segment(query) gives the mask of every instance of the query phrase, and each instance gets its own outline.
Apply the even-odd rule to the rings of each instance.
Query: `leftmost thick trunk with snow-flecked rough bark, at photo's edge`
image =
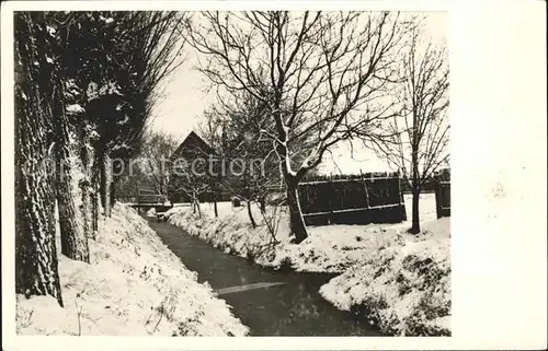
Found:
[[[62,306],[55,243],[52,115],[47,103],[52,74],[44,52],[45,28],[34,31],[27,13],[15,13],[15,292],[52,295]],[[41,32],[41,33],[38,33]],[[39,36],[37,34],[41,34]],[[33,44],[33,39],[36,43]],[[41,55],[38,55],[41,54]],[[37,57],[34,67],[32,57]],[[7,234],[7,233],[4,233]]]

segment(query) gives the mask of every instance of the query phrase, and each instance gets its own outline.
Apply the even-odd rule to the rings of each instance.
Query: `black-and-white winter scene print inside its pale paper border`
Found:
[[[16,336],[452,339],[449,12],[259,8],[9,13]]]

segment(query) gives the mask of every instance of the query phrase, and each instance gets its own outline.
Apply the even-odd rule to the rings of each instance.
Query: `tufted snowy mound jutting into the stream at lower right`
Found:
[[[450,336],[449,219],[427,223],[415,241],[378,250],[320,293],[389,335]]]

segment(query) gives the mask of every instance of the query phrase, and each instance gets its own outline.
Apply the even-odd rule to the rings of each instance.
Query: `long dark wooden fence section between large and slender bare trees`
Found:
[[[393,174],[299,184],[308,225],[398,223],[407,220],[401,182]]]

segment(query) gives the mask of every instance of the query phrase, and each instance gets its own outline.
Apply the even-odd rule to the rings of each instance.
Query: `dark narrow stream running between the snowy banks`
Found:
[[[380,336],[346,312],[333,307],[319,294],[332,274],[277,272],[224,254],[205,242],[168,224],[149,221],[163,243],[201,282],[215,290],[253,283],[282,282],[270,288],[221,294],[233,314],[250,327],[252,336]],[[226,291],[226,290],[225,290]]]

